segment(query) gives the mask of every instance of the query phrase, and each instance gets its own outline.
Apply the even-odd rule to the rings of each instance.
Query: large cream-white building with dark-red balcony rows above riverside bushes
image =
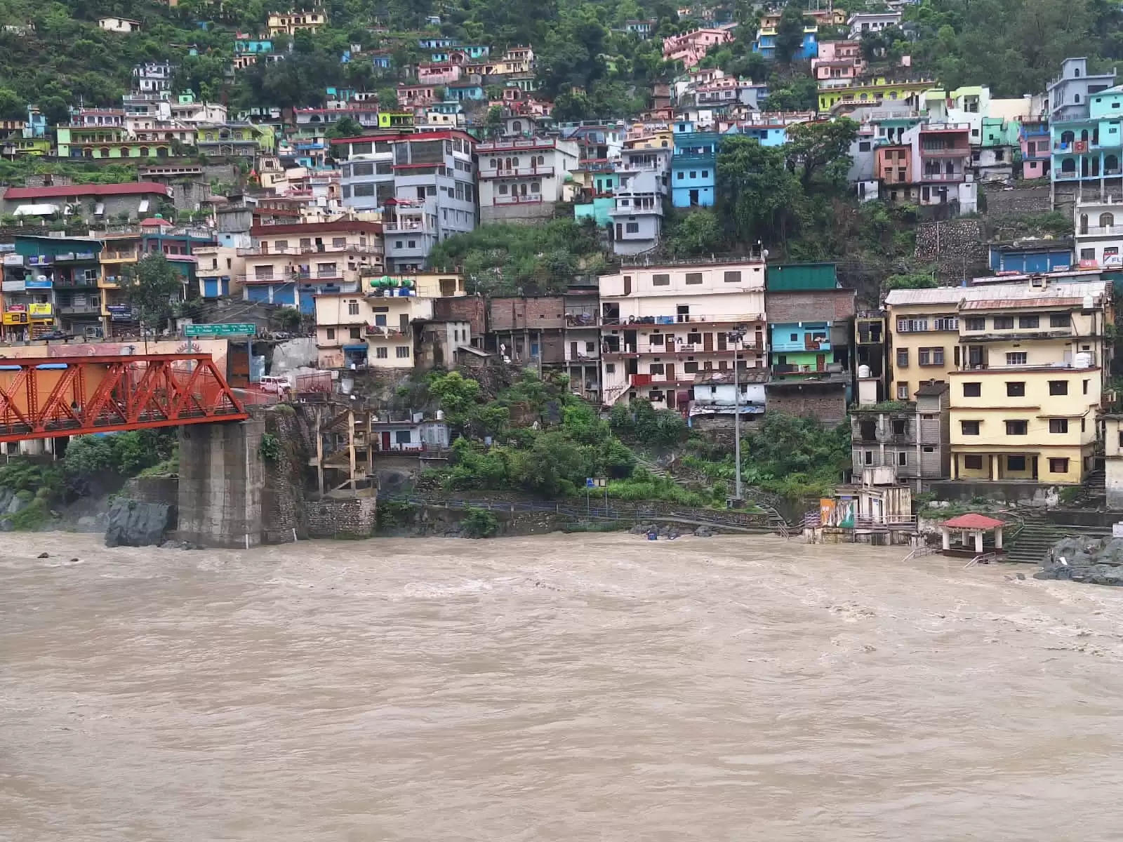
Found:
[[[675,408],[700,372],[767,366],[765,263],[626,266],[602,275],[601,388],[611,405]],[[730,331],[742,331],[740,340]]]

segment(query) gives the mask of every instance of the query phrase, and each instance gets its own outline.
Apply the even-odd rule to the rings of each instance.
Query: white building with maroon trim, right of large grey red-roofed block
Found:
[[[576,143],[557,138],[485,140],[475,154],[482,222],[549,219],[578,158]]]

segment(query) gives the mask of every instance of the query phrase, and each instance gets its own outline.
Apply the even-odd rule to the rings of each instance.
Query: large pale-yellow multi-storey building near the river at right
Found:
[[[1092,470],[1106,282],[895,290],[886,305],[894,396],[949,384],[952,479],[1075,484]]]

